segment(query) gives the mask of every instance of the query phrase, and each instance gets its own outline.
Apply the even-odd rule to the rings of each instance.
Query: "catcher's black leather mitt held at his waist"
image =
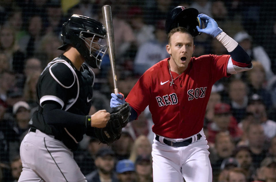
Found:
[[[110,145],[118,140],[122,133],[122,128],[125,127],[129,121],[130,107],[129,103],[124,103],[114,108],[110,112],[110,120],[104,128],[95,128],[95,136],[101,141]]]

